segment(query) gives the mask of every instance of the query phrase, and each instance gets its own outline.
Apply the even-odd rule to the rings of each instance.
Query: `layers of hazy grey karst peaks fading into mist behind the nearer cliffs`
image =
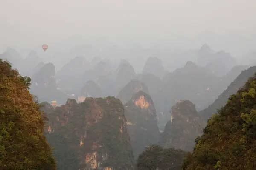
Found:
[[[178,100],[189,99],[196,110],[201,111],[211,105],[241,71],[256,63],[253,54],[239,62],[225,51],[211,50],[207,44],[199,50],[181,51],[177,57],[165,57],[165,62],[161,59],[163,53],[138,46],[125,54],[131,57],[119,60],[96,56],[90,61],[83,57],[90,54],[86,49],[90,48],[71,50],[70,54],[75,57],[66,63],[58,54],[49,59],[51,62],[44,62],[36,51],[23,59],[13,48],[7,48],[0,57],[11,62],[21,75],[31,77],[30,92],[41,102],[56,100],[60,105],[68,98],[82,102],[86,97],[100,96],[117,96],[128,102],[131,94],[144,89],[154,102],[162,130],[169,121],[170,107]],[[116,49],[109,52],[114,55]],[[60,67],[58,71],[56,65]]]

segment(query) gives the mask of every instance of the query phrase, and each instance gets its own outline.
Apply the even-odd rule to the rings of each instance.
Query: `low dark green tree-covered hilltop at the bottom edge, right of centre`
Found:
[[[137,170],[180,170],[186,152],[149,145],[137,159]]]

